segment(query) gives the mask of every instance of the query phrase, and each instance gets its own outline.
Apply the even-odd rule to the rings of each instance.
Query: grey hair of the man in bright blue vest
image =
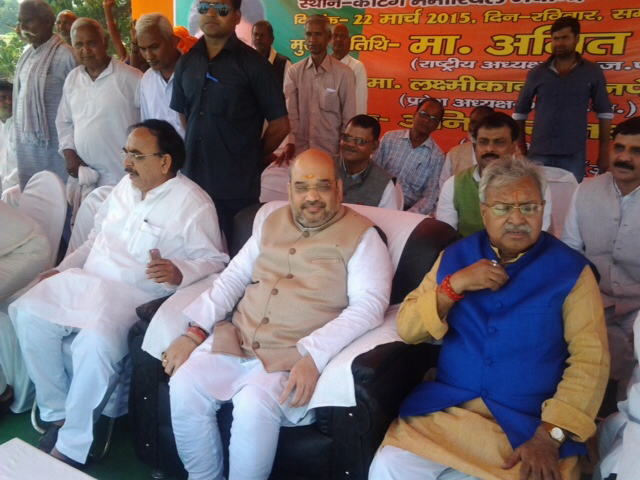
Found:
[[[480,203],[487,201],[487,189],[489,187],[506,187],[527,177],[535,180],[540,189],[540,196],[544,198],[544,193],[547,190],[547,180],[540,165],[522,155],[509,155],[492,161],[482,171],[482,178],[478,185]]]

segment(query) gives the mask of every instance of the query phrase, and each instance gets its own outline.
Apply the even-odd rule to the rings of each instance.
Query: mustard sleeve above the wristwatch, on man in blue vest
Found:
[[[567,368],[553,398],[542,405],[542,420],[584,442],[596,431],[594,418],[609,377],[609,347],[598,283],[586,266],[562,307]]]

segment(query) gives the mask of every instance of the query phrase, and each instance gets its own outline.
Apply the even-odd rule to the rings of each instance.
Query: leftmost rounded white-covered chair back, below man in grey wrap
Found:
[[[49,171],[36,173],[20,195],[18,210],[36,222],[51,245],[48,268],[55,264],[67,216],[67,192],[60,177]]]

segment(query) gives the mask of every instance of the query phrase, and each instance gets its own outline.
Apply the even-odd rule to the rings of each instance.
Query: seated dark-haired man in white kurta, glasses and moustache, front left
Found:
[[[162,120],[132,128],[123,155],[129,175],[88,240],[9,307],[41,416],[54,424],[40,447],[72,465],[86,461],[94,418],[122,371],[135,307],[228,261],[211,199],[178,173],[180,135]],[[72,334],[70,379],[61,343]]]

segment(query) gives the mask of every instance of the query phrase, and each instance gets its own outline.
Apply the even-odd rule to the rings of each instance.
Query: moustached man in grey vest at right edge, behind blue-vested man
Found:
[[[562,240],[593,262],[611,345],[612,392],[626,396],[633,366],[633,324],[640,310],[640,117],[613,130],[610,171],[578,186]]]

